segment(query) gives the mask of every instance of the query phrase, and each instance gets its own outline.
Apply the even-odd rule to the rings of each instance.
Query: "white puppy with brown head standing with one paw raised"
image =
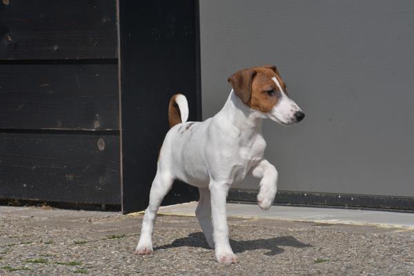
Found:
[[[250,174],[260,180],[257,202],[263,210],[273,204],[277,170],[264,159],[262,120],[290,126],[304,112],[290,99],[275,66],[239,70],[228,78],[232,86],[224,107],[206,121],[188,122],[188,103],[174,95],[168,106],[170,130],[159,152],[157,174],[142,221],[136,254],[152,254],[157,210],[175,179],[199,188],[195,211],[204,236],[220,263],[237,263],[228,239],[226,197],[230,187]]]

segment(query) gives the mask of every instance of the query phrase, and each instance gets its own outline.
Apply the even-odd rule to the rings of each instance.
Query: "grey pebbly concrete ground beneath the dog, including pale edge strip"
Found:
[[[414,214],[228,204],[239,264],[224,265],[194,208],[162,208],[139,256],[139,213],[0,206],[0,275],[414,275]]]

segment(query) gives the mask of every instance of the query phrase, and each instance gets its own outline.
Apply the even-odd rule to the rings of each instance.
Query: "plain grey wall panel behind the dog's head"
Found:
[[[200,17],[204,119],[265,63],[306,113],[264,124],[279,190],[414,197],[414,1],[201,0]]]

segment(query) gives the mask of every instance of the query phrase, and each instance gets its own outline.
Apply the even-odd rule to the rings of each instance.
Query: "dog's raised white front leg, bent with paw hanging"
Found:
[[[257,195],[259,207],[268,210],[275,200],[277,191],[277,170],[266,159],[260,161],[252,170],[253,177],[261,178],[260,190]]]

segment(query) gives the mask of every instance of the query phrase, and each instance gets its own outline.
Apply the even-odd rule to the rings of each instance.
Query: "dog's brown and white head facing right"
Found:
[[[305,117],[304,112],[288,96],[286,84],[276,66],[239,70],[228,78],[228,82],[248,107],[264,113],[279,124],[289,126]]]

